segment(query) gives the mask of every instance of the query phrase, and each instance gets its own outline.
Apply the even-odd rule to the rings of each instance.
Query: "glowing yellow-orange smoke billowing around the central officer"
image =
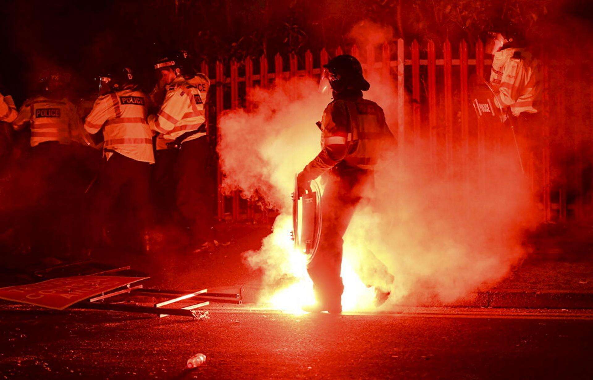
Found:
[[[365,97],[385,108],[397,136],[393,81],[373,71],[367,78]],[[255,91],[251,101],[253,111],[222,117],[219,152],[225,189],[260,194],[280,210],[262,249],[245,254],[273,293],[285,278],[308,282],[305,258],[289,240],[290,193],[294,174],[320,150],[314,123],[329,97],[313,80],[296,78]],[[525,254],[522,232],[533,224],[533,209],[514,147],[487,151],[486,170],[464,166],[454,152],[459,159],[449,167],[466,170],[447,171],[426,146],[391,152],[377,167],[374,196],[362,202],[345,236],[345,309],[368,308],[372,288],[391,292],[388,304],[451,302],[500,279]]]

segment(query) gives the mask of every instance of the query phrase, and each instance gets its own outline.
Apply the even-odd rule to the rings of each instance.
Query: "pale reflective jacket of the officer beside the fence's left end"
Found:
[[[206,121],[204,103],[209,87],[210,81],[203,74],[196,74],[191,79],[178,76],[168,85],[160,110],[156,115],[148,116],[151,129],[161,134],[157,136],[157,149],[166,149],[167,142],[198,129]],[[206,132],[196,133],[183,142],[205,135]]]

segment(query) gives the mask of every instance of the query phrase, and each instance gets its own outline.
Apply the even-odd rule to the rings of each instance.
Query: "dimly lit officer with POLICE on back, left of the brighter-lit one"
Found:
[[[74,238],[72,218],[79,211],[71,143],[80,120],[67,97],[69,79],[63,71],[43,71],[38,83],[40,93],[24,102],[12,123],[17,131],[30,127],[31,149],[24,155],[15,183],[27,204],[24,209],[31,212],[31,244],[43,254],[69,250]]]

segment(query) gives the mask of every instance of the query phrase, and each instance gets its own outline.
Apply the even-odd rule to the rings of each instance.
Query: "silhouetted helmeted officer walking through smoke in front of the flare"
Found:
[[[369,83],[356,58],[340,55],[324,68],[334,100],[321,120],[322,149],[297,177],[300,197],[311,180],[328,174],[321,198],[320,242],[307,266],[318,303],[304,309],[341,312],[342,238],[364,191],[372,186],[374,167],[382,148],[393,142],[393,135],[385,123],[382,108],[362,97]]]

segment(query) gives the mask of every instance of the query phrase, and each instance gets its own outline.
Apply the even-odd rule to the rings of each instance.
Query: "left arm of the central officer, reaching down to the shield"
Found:
[[[343,102],[327,106],[323,114],[323,149],[302,171],[301,175],[306,180],[314,180],[346,157],[348,123]]]

